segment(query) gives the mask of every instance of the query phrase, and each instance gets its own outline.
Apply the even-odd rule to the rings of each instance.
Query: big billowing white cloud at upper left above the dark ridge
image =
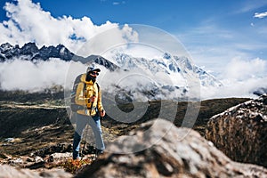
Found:
[[[87,41],[101,32],[110,28],[117,28],[117,33],[121,31],[117,23],[111,23],[109,20],[97,26],[88,17],[54,18],[50,12],[45,12],[40,4],[34,4],[31,0],[18,0],[17,4],[6,3],[4,9],[9,19],[0,23],[0,44],[9,42],[23,45],[36,42],[38,47],[64,44],[70,51],[76,53],[81,51],[80,48]],[[127,29],[131,30],[131,28]],[[125,34],[125,31],[122,31],[121,40],[125,40],[123,38],[125,35],[131,35],[131,33]],[[130,38],[131,36],[128,39]],[[105,40],[109,43],[108,40],[113,39]]]

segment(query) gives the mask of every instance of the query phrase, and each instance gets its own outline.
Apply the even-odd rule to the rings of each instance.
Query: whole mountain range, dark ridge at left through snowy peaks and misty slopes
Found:
[[[198,80],[199,85],[203,86],[222,85],[205,70],[192,64],[188,58],[173,56],[170,53],[163,53],[162,57],[153,59],[115,53],[107,60],[99,55],[90,55],[86,58],[77,56],[62,44],[56,47],[43,46],[40,49],[35,43],[24,44],[21,48],[19,45],[13,46],[8,43],[0,45],[1,62],[17,58],[33,62],[58,58],[62,61],[95,63],[101,69],[110,72],[106,75],[108,78],[106,82],[103,82],[103,88],[107,83],[107,91],[115,92],[118,98],[127,98],[127,101],[134,100],[141,95],[149,100],[188,97],[187,93],[191,90],[189,83],[195,79]]]

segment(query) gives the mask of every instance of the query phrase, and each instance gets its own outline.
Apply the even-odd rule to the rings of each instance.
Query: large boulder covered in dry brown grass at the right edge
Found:
[[[267,166],[267,95],[210,118],[206,139],[235,161]]]

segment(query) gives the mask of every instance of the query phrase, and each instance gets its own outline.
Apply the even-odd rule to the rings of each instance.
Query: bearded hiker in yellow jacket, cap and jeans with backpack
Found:
[[[81,137],[87,124],[93,129],[96,154],[99,155],[105,150],[100,119],[100,117],[105,116],[105,110],[101,103],[101,89],[96,83],[96,77],[100,71],[101,69],[95,69],[94,66],[91,66],[87,68],[85,74],[79,76],[80,81],[77,85],[75,102],[80,108],[73,111],[73,117],[76,117],[77,120],[73,139],[73,159],[79,159]]]

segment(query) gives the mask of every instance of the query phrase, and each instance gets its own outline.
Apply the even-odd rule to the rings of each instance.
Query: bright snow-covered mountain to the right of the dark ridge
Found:
[[[133,75],[137,74],[133,78],[133,75],[125,72],[125,77],[128,75],[131,83],[125,82],[126,89],[123,90],[117,86],[117,93],[124,91],[125,96],[132,96],[132,98],[138,91],[144,93],[149,99],[168,97],[177,99],[177,97],[189,97],[188,93],[192,87],[200,90],[200,85],[214,87],[223,85],[205,70],[192,64],[188,58],[172,56],[170,53],[163,53],[162,57],[157,59],[135,58],[125,53],[115,53],[112,61],[115,61],[120,69]],[[120,97],[123,98],[123,95],[120,94]]]

